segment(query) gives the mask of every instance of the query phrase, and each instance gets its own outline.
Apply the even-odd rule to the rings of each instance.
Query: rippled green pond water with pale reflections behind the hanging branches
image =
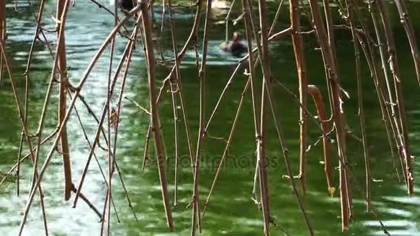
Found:
[[[21,1],[22,5],[26,1]],[[109,6],[108,1],[101,1]],[[276,7],[270,4],[270,15],[274,15]],[[111,6],[109,6],[111,8]],[[21,95],[24,90],[23,71],[26,67],[26,58],[34,33],[34,21],[32,12],[21,8],[19,12],[12,13],[13,4],[8,5],[8,53],[12,57],[14,75],[18,81],[18,88]],[[420,10],[420,3],[410,2],[410,13],[414,28],[420,32],[420,19],[413,12]],[[160,9],[156,9],[160,18]],[[238,9],[237,9],[238,10]],[[417,117],[419,110],[419,88],[414,77],[414,67],[408,42],[404,37],[403,28],[399,26],[397,12],[394,6],[389,6],[392,19],[394,19],[394,35],[396,36],[397,48],[399,50],[399,66],[404,83],[405,102],[408,110],[408,121],[410,127],[410,150],[412,155],[419,155],[419,148],[415,145],[419,141],[420,122]],[[44,22],[46,28],[53,29],[54,23],[50,19],[55,14],[55,3],[48,1]],[[216,22],[225,18],[225,11],[214,10],[212,21],[215,23],[210,29],[209,55],[207,67],[207,117],[216,104],[218,96],[224,88],[227,79],[236,65],[236,58],[230,57],[219,50],[219,44],[225,38],[224,28]],[[239,13],[234,12],[235,16]],[[276,28],[281,30],[287,27],[287,10],[283,10],[283,17]],[[177,19],[178,43],[181,47],[189,34],[191,27],[191,12],[177,8],[175,12]],[[70,8],[66,25],[66,45],[70,80],[77,83],[82,77],[84,70],[95,51],[104,41],[113,26],[113,19],[88,1],[77,1],[74,8]],[[157,21],[160,26],[160,20]],[[128,24],[132,27],[132,23]],[[240,26],[236,26],[240,29]],[[200,31],[201,32],[201,31]],[[350,92],[351,99],[345,100],[345,111],[347,122],[352,131],[360,135],[358,126],[356,81],[354,75],[354,55],[350,35],[345,31],[336,32],[339,69],[343,81],[343,88]],[[55,35],[47,34],[48,39],[55,39]],[[169,23],[166,23],[165,33],[155,35],[159,41],[158,45],[166,56],[171,55],[171,40],[169,34]],[[419,38],[419,37],[418,37]],[[325,99],[325,76],[321,64],[321,55],[316,48],[312,37],[305,36],[306,59],[308,65],[309,83],[315,84],[323,90]],[[122,54],[126,39],[118,38],[117,55]],[[420,43],[420,41],[419,41]],[[35,132],[39,112],[44,101],[46,85],[50,77],[51,56],[46,46],[37,44],[35,57],[32,62],[30,81],[30,131]],[[297,76],[294,66],[294,55],[292,44],[289,39],[284,39],[271,45],[271,66],[274,77],[282,81],[288,88],[297,91]],[[108,71],[108,51],[99,61],[82,90],[82,95],[89,102],[95,114],[99,115],[105,102],[106,81]],[[187,101],[189,121],[193,131],[193,143],[198,130],[198,74],[195,68],[193,51],[187,52],[187,57],[182,62],[182,81],[184,84],[184,97]],[[115,62],[116,63],[116,62]],[[142,47],[137,47],[133,66],[128,73],[126,85],[126,96],[138,101],[142,106],[148,106],[148,87],[146,68],[144,66]],[[213,137],[224,137],[227,139],[233,122],[233,117],[238,106],[240,95],[245,86],[245,77],[240,75],[233,79],[231,89],[227,97],[222,101],[220,110],[209,128],[209,135]],[[162,67],[157,69],[158,86],[162,78],[166,77],[167,71]],[[55,86],[55,89],[57,86]],[[367,127],[367,140],[369,144],[372,177],[377,180],[372,183],[372,197],[379,217],[392,235],[420,235],[419,197],[407,197],[404,184],[399,183],[397,175],[392,168],[392,157],[388,147],[379,104],[376,101],[372,79],[363,61],[363,89],[365,91],[365,116]],[[55,93],[57,90],[55,90]],[[274,86],[274,95],[278,106],[278,117],[287,137],[290,158],[294,166],[294,173],[298,167],[298,106],[287,93],[278,86]],[[56,97],[56,95],[54,95]],[[17,117],[15,101],[12,99],[10,82],[6,78],[4,86],[0,89],[0,170],[7,172],[15,164],[21,124]],[[312,101],[309,102],[310,110],[314,111]],[[115,105],[115,102],[114,104]],[[82,106],[77,104],[77,111],[82,115],[84,127],[89,138],[93,139],[95,132],[95,121],[88,115]],[[57,104],[53,103],[47,112],[47,128],[44,135],[52,132],[56,122]],[[164,141],[169,155],[167,168],[169,181],[169,194],[173,197],[174,181],[174,144],[173,144],[173,117],[171,110],[171,99],[168,93],[164,93],[160,115]],[[229,149],[227,164],[222,168],[218,183],[211,197],[206,216],[204,217],[203,235],[261,235],[263,222],[262,213],[251,201],[251,190],[254,177],[254,123],[251,112],[250,94],[242,108],[240,119],[235,135],[233,135],[232,146]],[[191,208],[184,208],[191,201],[191,190],[193,179],[191,167],[187,157],[187,143],[182,123],[180,123],[182,173],[178,188],[178,207],[173,209],[175,230],[172,235],[187,235],[191,226]],[[149,164],[145,170],[141,170],[142,155],[144,151],[144,137],[149,125],[149,117],[137,109],[129,101],[124,100],[122,104],[122,115],[120,121],[120,133],[117,148],[117,161],[122,171],[128,194],[133,202],[133,208],[139,222],[136,222],[130,208],[126,203],[126,197],[122,190],[120,180],[115,175],[113,181],[113,197],[117,207],[117,213],[121,223],[113,213],[111,229],[114,235],[168,235],[162,199],[159,187],[158,171],[155,164]],[[312,122],[309,122],[310,141],[313,144],[320,132]],[[73,182],[79,183],[82,170],[88,155],[88,145],[81,132],[77,117],[70,117],[68,122],[68,135],[70,140],[70,153],[72,158]],[[307,235],[303,218],[298,211],[298,206],[292,190],[289,188],[285,175],[283,157],[278,148],[278,141],[274,126],[269,126],[268,139],[269,155],[269,193],[271,215],[276,222],[286,228],[290,235]],[[364,183],[363,149],[358,141],[348,139],[348,158],[352,170],[359,184]],[[41,151],[41,157],[45,157],[47,144]],[[225,148],[225,142],[219,139],[206,139],[204,155],[200,166],[200,201],[203,207],[205,198],[209,193],[211,182],[216,171],[216,165]],[[153,149],[153,146],[152,148]],[[103,168],[106,167],[106,152],[98,149],[96,151],[99,162]],[[153,152],[151,153],[153,157]],[[323,174],[323,160],[321,146],[312,148],[308,156],[308,190],[305,196],[305,208],[309,214],[316,235],[337,235],[341,232],[340,204],[338,195],[330,197],[327,193],[325,177]],[[338,165],[334,156],[335,166]],[[16,235],[21,221],[21,210],[24,208],[28,189],[30,188],[32,176],[32,164],[26,161],[22,166],[21,195],[17,197],[15,184],[8,183],[0,188],[0,232],[3,235]],[[79,201],[77,208],[72,208],[73,197],[70,201],[64,201],[64,178],[61,174],[61,157],[55,155],[44,175],[43,188],[45,194],[46,214],[48,217],[48,228],[53,235],[97,235],[100,232],[99,219],[83,201]],[[418,173],[418,172],[416,172]],[[334,173],[334,186],[338,186],[338,172]],[[379,222],[374,215],[366,213],[365,204],[361,198],[361,192],[351,181],[352,193],[354,195],[354,217],[355,220],[350,230],[343,235],[381,235]],[[416,193],[420,186],[416,184]],[[102,175],[97,164],[93,160],[88,170],[88,175],[82,189],[95,206],[102,210],[105,199],[105,186]],[[173,201],[172,201],[173,202]],[[41,235],[44,233],[44,226],[39,209],[39,197],[35,197],[32,210],[28,217],[28,223],[24,231],[25,235]],[[271,228],[273,235],[282,235],[274,227]]]

